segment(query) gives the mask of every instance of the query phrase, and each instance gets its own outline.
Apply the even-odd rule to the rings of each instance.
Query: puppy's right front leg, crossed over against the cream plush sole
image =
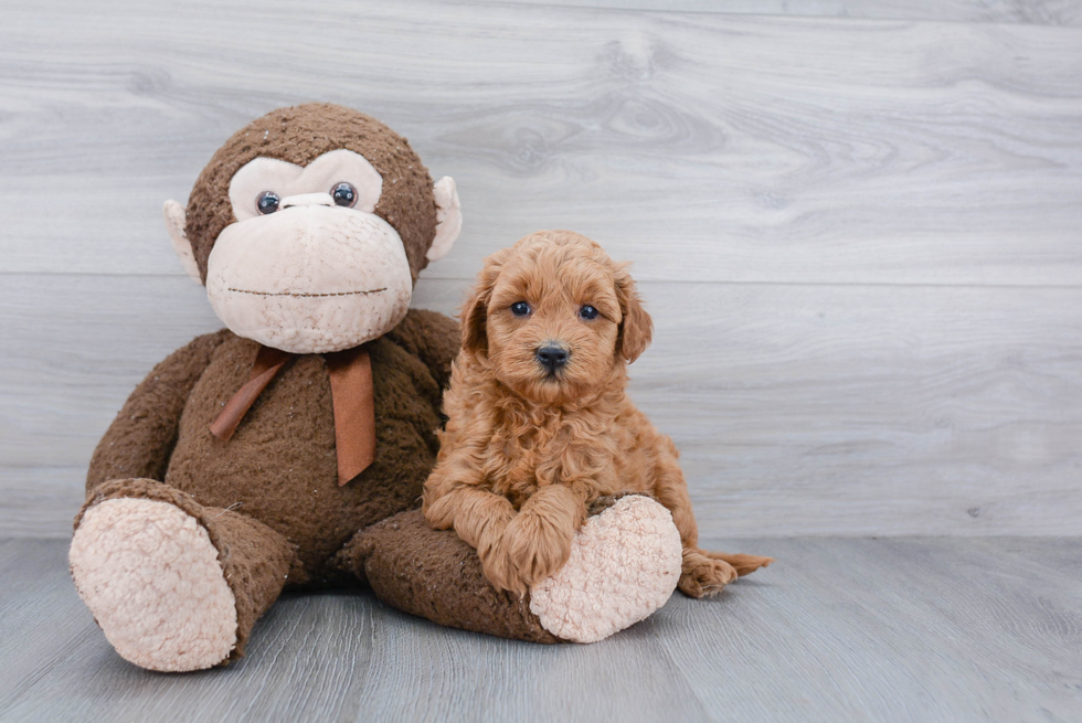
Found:
[[[524,593],[560,570],[571,556],[575,531],[586,520],[586,495],[570,485],[549,485],[526,501],[503,532],[502,546]]]

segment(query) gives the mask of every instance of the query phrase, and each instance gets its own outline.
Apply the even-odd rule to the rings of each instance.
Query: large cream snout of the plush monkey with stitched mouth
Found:
[[[206,264],[206,294],[234,333],[298,354],[350,349],[405,316],[413,278],[402,240],[327,193],[227,226]]]

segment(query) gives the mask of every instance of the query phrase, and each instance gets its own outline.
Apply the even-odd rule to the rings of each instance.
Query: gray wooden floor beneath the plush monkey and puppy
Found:
[[[714,541],[722,546],[732,541]],[[368,593],[290,596],[224,669],[124,662],[66,543],[0,543],[7,721],[1080,721],[1082,541],[774,539],[721,597],[592,646],[439,628]]]

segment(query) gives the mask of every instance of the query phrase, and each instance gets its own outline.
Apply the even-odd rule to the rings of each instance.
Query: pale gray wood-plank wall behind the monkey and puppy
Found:
[[[307,100],[457,180],[416,306],[541,227],[635,262],[704,535],[1082,534],[1082,3],[719,6],[0,2],[0,536],[219,326],[162,201]]]

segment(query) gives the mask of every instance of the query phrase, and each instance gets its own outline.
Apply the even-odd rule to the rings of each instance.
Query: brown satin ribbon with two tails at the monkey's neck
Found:
[[[211,424],[211,434],[229,442],[267,384],[295,354],[259,347],[248,382],[225,403]],[[375,459],[375,395],[372,389],[372,360],[364,347],[323,354],[330,372],[330,395],[335,407],[335,446],[338,453],[338,483],[344,485]]]

